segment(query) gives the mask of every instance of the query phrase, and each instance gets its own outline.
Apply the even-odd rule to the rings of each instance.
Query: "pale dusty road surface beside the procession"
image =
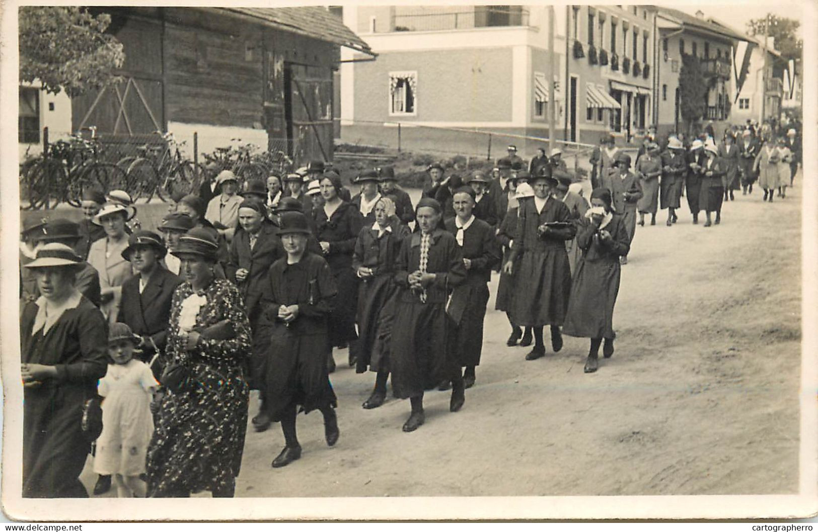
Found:
[[[426,424],[406,434],[408,402],[362,409],[374,376],[336,351],[339,443],[326,446],[320,414],[301,416],[302,458],[273,470],[280,427],[249,429],[236,496],[796,493],[800,196],[739,193],[721,226],[681,209],[672,228],[662,213],[637,228],[616,354],[595,374],[582,373],[586,339],[528,362],[489,311],[465,407],[430,392]],[[493,308],[496,277],[491,288]]]

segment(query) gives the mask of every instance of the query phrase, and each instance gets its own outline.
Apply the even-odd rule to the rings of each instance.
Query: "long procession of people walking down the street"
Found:
[[[173,199],[155,230],[121,190],[85,190],[79,223],[28,223],[20,243],[25,384],[23,495],[232,497],[248,427],[279,422],[272,467],[301,458],[299,412],[340,437],[330,383],[335,348],[374,373],[362,404],[408,399],[403,431],[425,423],[424,396],[465,405],[478,382],[488,284],[525,360],[588,338],[584,367],[613,355],[613,310],[637,226],[686,195],[693,223],[721,223],[734,191],[786,197],[798,168],[794,130],[712,128],[649,137],[636,162],[605,137],[591,156],[590,201],[560,151],[526,165],[509,146],[488,172],[433,163],[413,206],[393,168],[360,172],[350,194],[314,161],[265,181],[211,172]],[[106,194],[107,192],[107,194]],[[649,222],[646,216],[649,215]],[[367,385],[368,386],[368,385]],[[249,393],[258,391],[252,418]],[[100,406],[101,402],[101,406]]]

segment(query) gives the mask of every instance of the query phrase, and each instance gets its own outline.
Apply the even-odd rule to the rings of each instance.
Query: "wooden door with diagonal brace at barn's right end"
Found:
[[[286,113],[293,158],[299,164],[309,160],[332,160],[332,69],[287,65],[289,87]]]

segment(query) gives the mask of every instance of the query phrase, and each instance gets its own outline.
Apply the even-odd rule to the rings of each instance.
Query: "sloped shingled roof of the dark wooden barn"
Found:
[[[305,37],[333,42],[374,56],[366,42],[324,7],[219,7],[239,15],[258,19],[262,24]]]

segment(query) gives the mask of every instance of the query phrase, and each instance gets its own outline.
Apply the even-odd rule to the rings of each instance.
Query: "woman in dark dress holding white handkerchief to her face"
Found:
[[[630,248],[625,219],[613,212],[609,190],[598,188],[591,192],[591,208],[582,217],[577,242],[582,257],[573,276],[563,333],[591,338],[585,373],[593,373],[603,340],[603,355],[605,358],[613,355],[613,338],[616,338],[613,305],[621,275],[619,257],[627,255]]]

